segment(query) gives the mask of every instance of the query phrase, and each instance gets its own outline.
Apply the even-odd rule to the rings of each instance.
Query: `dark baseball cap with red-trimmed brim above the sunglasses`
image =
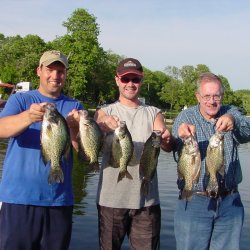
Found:
[[[130,73],[143,76],[142,65],[137,59],[126,58],[118,64],[116,69],[116,74],[118,76],[123,76]]]

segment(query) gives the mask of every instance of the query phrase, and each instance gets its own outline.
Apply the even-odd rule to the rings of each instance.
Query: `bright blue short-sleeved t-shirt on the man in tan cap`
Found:
[[[32,103],[41,102],[54,103],[64,117],[72,109],[83,109],[79,101],[64,95],[52,99],[32,90],[12,95],[0,117],[19,114],[29,109]],[[20,135],[10,138],[3,163],[0,201],[38,206],[73,205],[72,152],[67,160],[62,159],[64,182],[49,184],[50,163],[45,165],[41,156],[41,124],[33,123]]]

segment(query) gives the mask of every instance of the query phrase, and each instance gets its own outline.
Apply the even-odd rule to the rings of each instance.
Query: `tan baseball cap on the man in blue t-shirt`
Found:
[[[40,58],[39,66],[48,66],[53,62],[61,62],[66,68],[69,66],[67,57],[58,50],[44,52]]]

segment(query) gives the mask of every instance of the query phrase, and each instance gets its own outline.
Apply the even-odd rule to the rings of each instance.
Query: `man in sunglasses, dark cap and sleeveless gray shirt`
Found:
[[[149,185],[148,194],[142,194],[139,162],[144,144],[153,130],[161,131],[161,148],[165,151],[171,151],[172,137],[161,111],[138,99],[143,76],[143,68],[138,60],[122,60],[115,76],[119,99],[101,107],[95,114],[103,131],[111,136],[119,121],[125,121],[134,144],[134,156],[127,166],[130,178],[118,181],[119,169],[110,161],[112,141],[106,139],[105,142],[97,192],[99,243],[100,249],[104,250],[121,249],[125,235],[132,249],[159,248],[161,209],[157,174]]]

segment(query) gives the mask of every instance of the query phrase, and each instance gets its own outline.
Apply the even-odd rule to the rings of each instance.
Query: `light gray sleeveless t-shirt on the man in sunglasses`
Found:
[[[160,109],[141,104],[136,108],[115,102],[105,105],[102,110],[107,115],[116,115],[120,121],[126,121],[134,143],[134,156],[127,168],[133,177],[123,178],[117,182],[119,168],[110,166],[110,153],[113,133],[105,139],[103,149],[102,166],[97,190],[97,203],[101,206],[113,208],[139,209],[160,203],[157,173],[154,175],[149,187],[149,194],[145,197],[141,194],[141,178],[139,175],[139,162],[143,146],[153,131],[153,124]]]

